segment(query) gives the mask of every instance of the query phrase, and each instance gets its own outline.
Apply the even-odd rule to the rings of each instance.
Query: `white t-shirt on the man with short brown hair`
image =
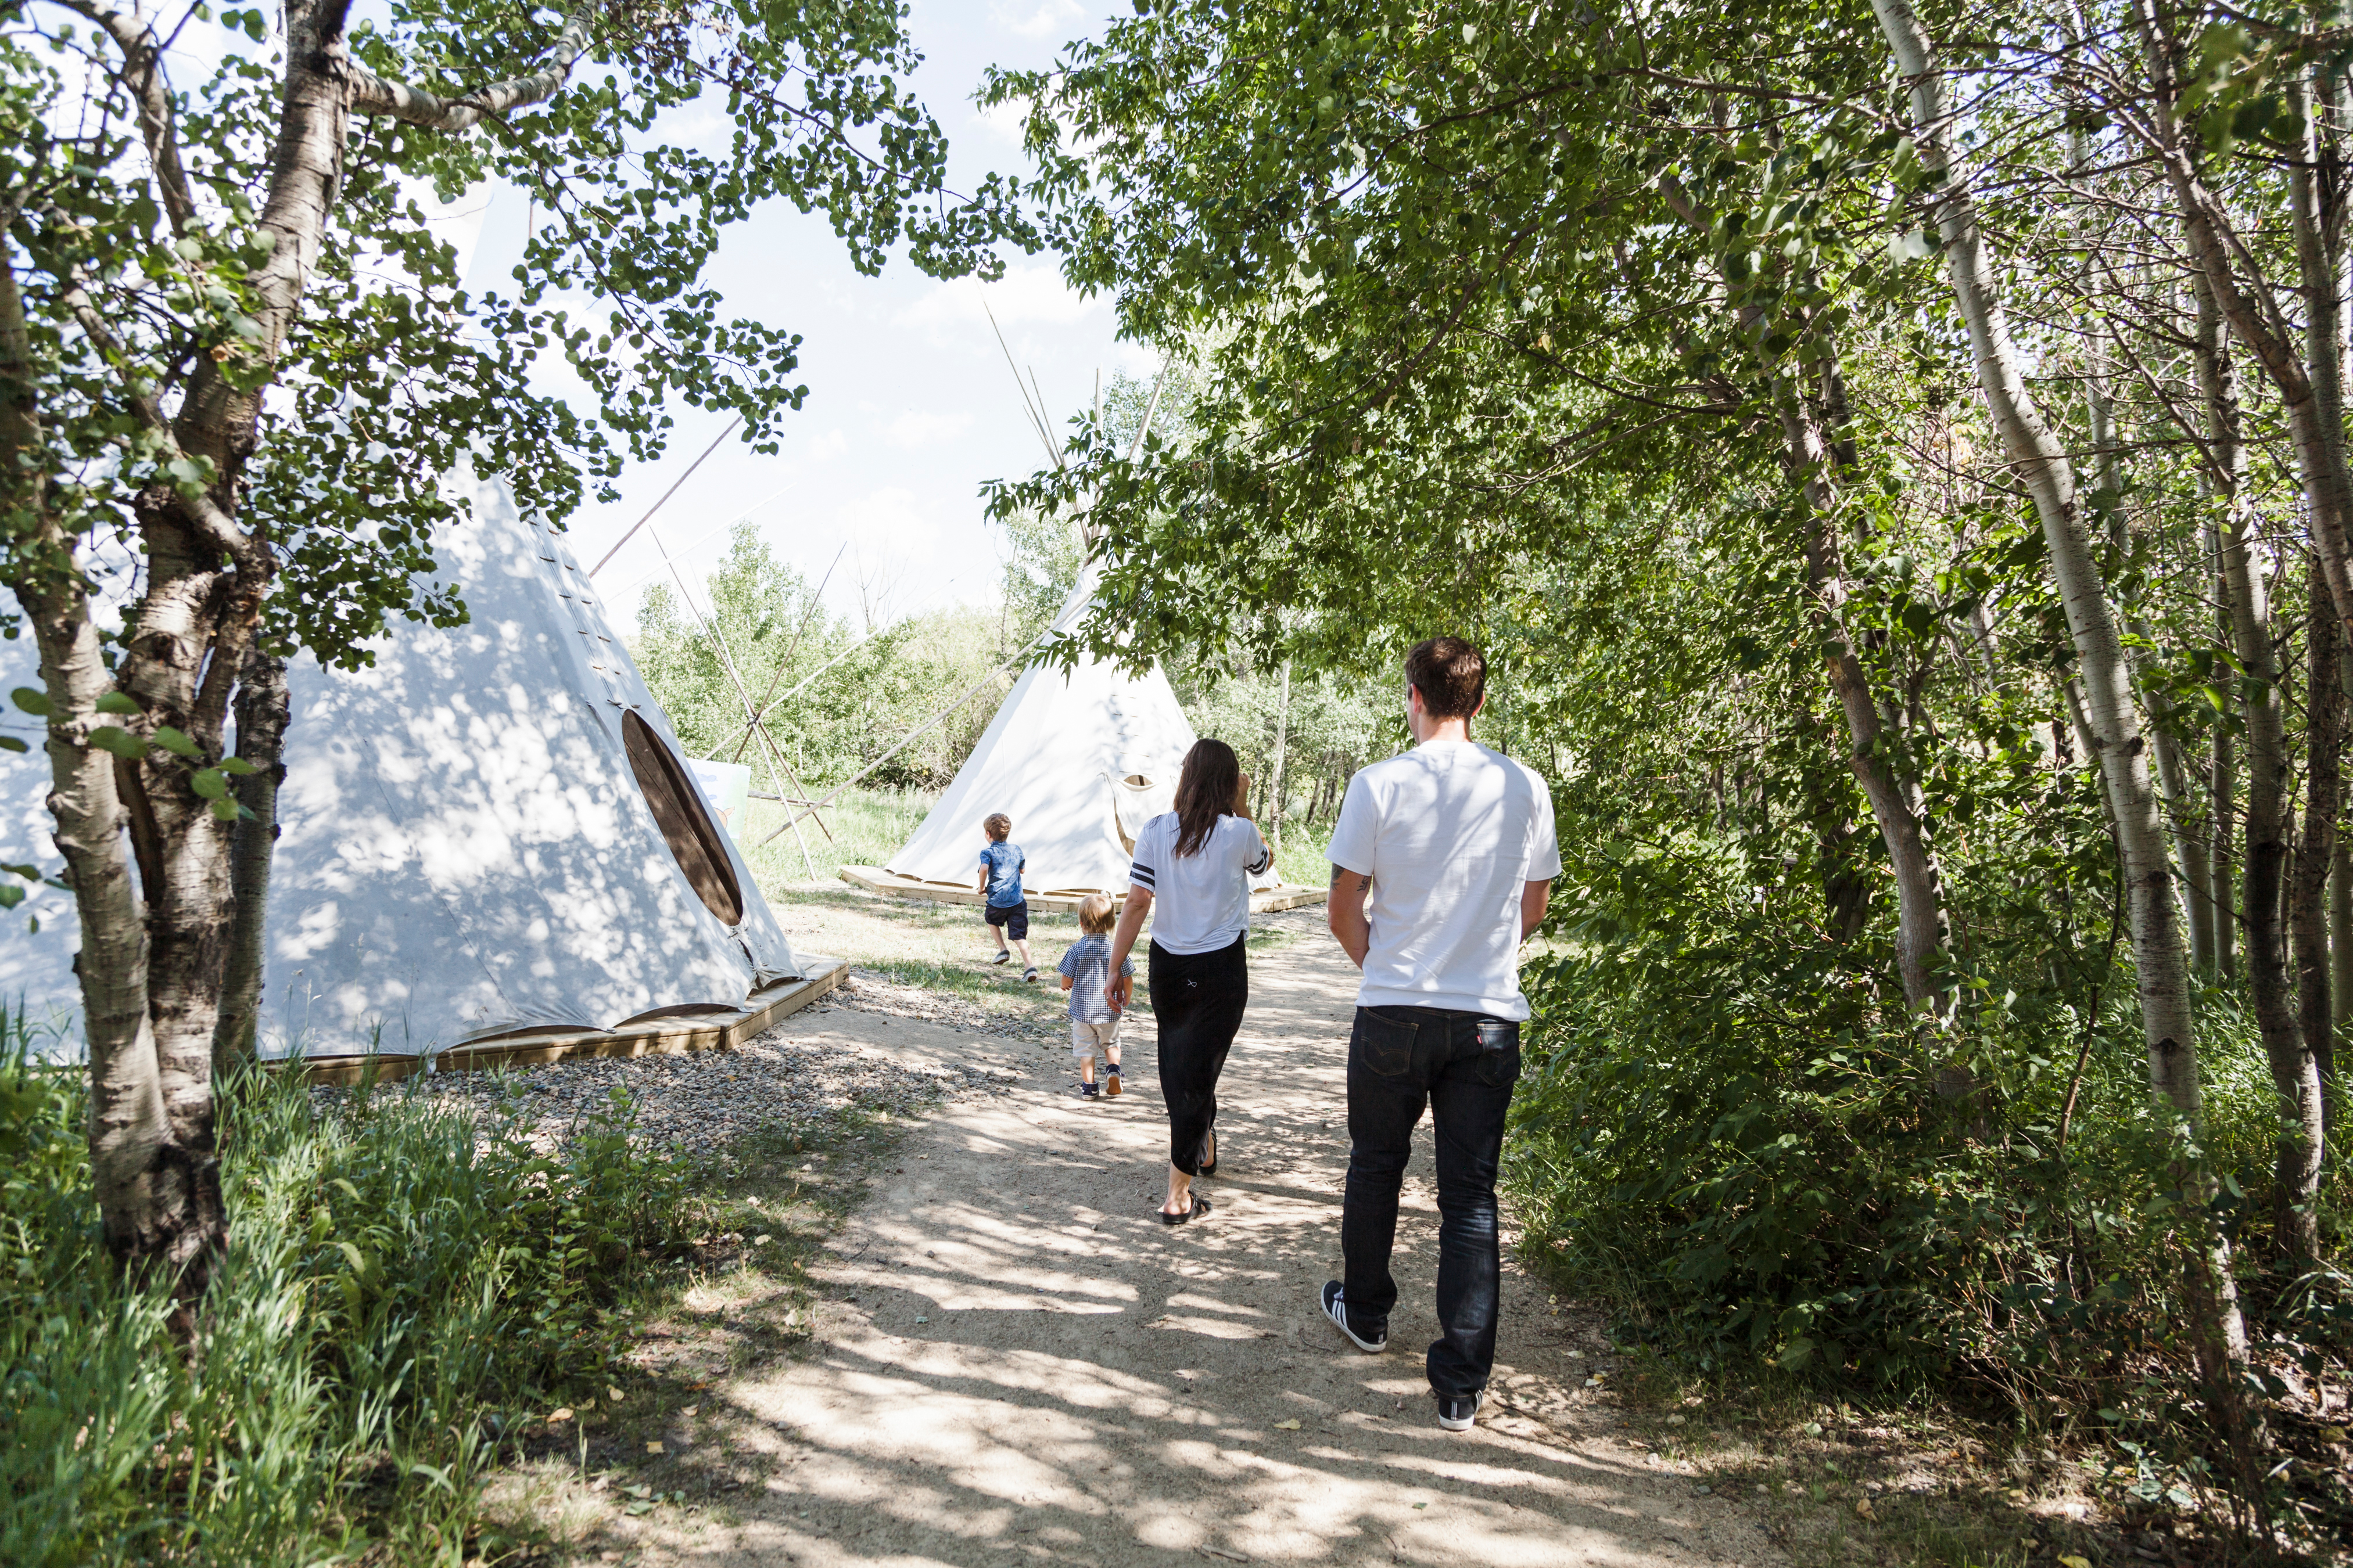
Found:
[[[1358,769],[1325,856],[1372,877],[1358,1006],[1527,1018],[1520,889],[1560,875],[1553,792],[1532,769],[1471,741],[1424,741]]]

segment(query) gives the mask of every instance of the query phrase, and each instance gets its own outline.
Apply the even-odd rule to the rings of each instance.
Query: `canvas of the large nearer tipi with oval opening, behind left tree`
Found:
[[[395,625],[355,675],[287,672],[266,1056],[609,1030],[800,973],[562,536],[466,482],[438,576],[468,625]],[[31,639],[5,646],[0,679],[38,684]],[[40,726],[12,724],[33,750],[0,752],[0,858],[54,870]],[[0,997],[78,1044],[73,900],[14,914],[40,931],[0,936]]]

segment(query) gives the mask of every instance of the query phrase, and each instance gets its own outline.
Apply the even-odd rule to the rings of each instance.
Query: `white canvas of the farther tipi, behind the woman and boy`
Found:
[[[1054,630],[1071,632],[1092,597],[1087,571]],[[1028,858],[1024,889],[1125,893],[1136,830],[1176,804],[1176,769],[1188,750],[1193,724],[1160,665],[1139,677],[1087,656],[1071,670],[1031,665],[885,870],[969,889],[988,842],[981,820],[1002,811]]]

